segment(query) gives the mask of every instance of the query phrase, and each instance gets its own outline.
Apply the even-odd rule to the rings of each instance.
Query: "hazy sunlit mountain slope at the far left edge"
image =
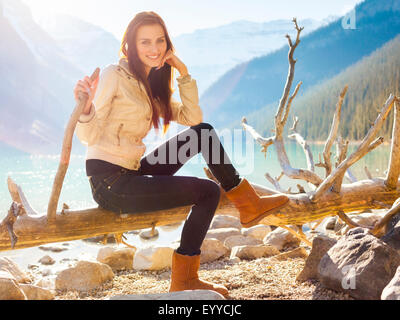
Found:
[[[0,1],[0,141],[29,153],[59,152],[80,71],[19,0]]]

